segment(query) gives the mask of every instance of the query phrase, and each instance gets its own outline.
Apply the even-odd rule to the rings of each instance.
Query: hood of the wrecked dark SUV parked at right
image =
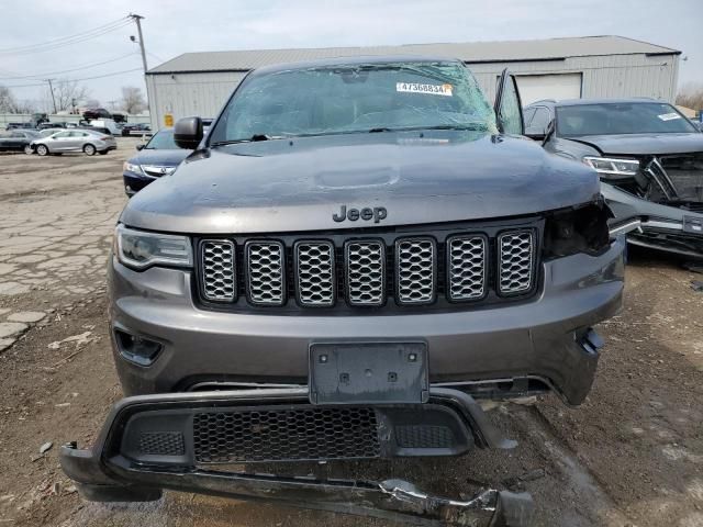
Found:
[[[601,150],[621,156],[657,156],[703,152],[703,134],[622,134],[566,137]]]

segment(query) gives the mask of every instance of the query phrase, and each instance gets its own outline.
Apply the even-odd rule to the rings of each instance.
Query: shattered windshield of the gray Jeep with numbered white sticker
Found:
[[[460,63],[373,63],[254,75],[230,101],[211,145],[433,127],[496,133],[493,109]]]

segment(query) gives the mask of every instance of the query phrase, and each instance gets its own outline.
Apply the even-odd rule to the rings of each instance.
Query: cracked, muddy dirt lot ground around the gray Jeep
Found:
[[[120,397],[104,264],[136,142],[104,157],[0,155],[0,527],[387,525],[178,493],[85,503],[62,473],[58,446],[90,444]],[[536,526],[703,526],[703,293],[690,287],[701,279],[632,251],[625,310],[599,327],[606,347],[588,401],[489,413],[516,449],[326,470],[451,496],[526,490]]]

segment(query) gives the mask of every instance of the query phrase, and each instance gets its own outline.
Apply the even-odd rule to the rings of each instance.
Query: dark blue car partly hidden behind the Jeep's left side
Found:
[[[161,176],[174,173],[180,161],[192,152],[176,146],[172,128],[157,132],[146,145],[138,145],[136,149],[140,153],[127,159],[123,167],[124,191],[127,195],[134,195]]]

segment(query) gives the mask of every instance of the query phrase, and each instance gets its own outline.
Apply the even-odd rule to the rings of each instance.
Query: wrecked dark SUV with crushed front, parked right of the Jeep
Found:
[[[674,106],[651,99],[538,101],[526,134],[593,167],[628,242],[703,258],[703,134]]]

